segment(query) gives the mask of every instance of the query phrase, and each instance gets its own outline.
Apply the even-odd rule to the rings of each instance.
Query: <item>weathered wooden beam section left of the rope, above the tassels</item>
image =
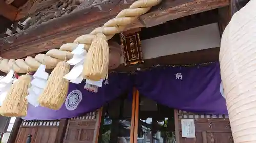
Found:
[[[129,2],[117,6],[116,2],[104,5],[103,11],[98,7],[85,8],[0,39],[0,56],[16,59],[73,42],[76,37],[102,26],[122,9],[128,8],[133,1]]]

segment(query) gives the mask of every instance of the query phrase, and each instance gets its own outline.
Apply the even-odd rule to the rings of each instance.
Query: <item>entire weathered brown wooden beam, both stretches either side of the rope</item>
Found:
[[[76,37],[102,26],[134,2],[131,0],[117,5],[117,0],[112,1],[102,5],[103,10],[99,10],[98,7],[82,9],[2,38],[0,39],[0,56],[17,59],[58,48],[62,44],[72,42]],[[160,5],[141,16],[139,21],[131,24],[127,29],[151,27],[227,5],[229,5],[229,0],[163,0]]]

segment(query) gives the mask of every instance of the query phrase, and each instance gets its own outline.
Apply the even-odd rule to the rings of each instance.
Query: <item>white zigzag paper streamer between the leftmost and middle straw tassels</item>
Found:
[[[26,96],[28,102],[35,106],[39,106],[38,97],[44,91],[46,87],[46,82],[49,77],[49,74],[45,72],[46,66],[40,65],[35,74],[33,75],[33,80],[30,83],[30,88],[28,89],[29,95]]]

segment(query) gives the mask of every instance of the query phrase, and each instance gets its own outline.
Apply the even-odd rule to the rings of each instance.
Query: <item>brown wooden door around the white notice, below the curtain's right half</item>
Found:
[[[181,120],[194,119],[196,138],[183,138]],[[231,127],[227,115],[199,115],[175,110],[177,143],[233,143]]]

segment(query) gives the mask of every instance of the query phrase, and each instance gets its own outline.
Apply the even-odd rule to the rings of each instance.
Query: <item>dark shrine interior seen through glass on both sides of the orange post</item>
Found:
[[[114,143],[120,138],[130,142],[132,97],[124,94],[103,108],[98,142]],[[174,137],[174,109],[140,95],[138,142],[166,142]],[[136,123],[135,123],[136,124]],[[125,143],[125,142],[121,142]]]

